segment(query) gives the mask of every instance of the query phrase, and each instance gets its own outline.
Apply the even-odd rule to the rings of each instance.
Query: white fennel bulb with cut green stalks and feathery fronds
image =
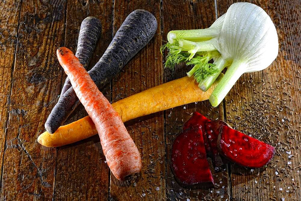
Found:
[[[243,73],[267,68],[278,55],[275,25],[262,8],[251,3],[232,4],[208,29],[170,31],[167,39],[162,47],[168,49],[165,66],[193,64],[187,74],[194,75],[203,91],[228,67],[209,98],[214,107]],[[211,59],[213,64],[208,64]]]

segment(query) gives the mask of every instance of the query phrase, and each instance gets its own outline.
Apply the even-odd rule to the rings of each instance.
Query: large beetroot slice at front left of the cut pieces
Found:
[[[171,168],[184,187],[214,186],[200,126],[187,129],[177,136],[172,146]]]

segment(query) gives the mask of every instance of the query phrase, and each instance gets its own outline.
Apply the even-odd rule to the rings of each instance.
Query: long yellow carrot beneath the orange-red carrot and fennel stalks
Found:
[[[193,77],[182,77],[142,91],[112,104],[123,122],[158,111],[209,99],[222,74],[203,92]],[[74,143],[97,134],[93,121],[86,116],[61,126],[53,134],[47,131],[38,137],[44,146],[55,147]]]

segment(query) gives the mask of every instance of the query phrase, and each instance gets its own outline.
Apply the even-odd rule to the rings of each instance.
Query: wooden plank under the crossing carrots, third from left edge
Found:
[[[65,46],[70,47],[73,52],[76,52],[82,20],[85,17],[94,16],[98,17],[102,23],[102,33],[91,59],[90,68],[96,64],[112,39],[112,6],[112,1],[68,1]],[[110,100],[110,85],[102,92]],[[85,109],[80,105],[66,123],[71,123],[86,115]],[[104,161],[105,157],[98,135],[70,146],[58,148],[55,199],[73,197],[82,200],[107,200],[109,169]]]

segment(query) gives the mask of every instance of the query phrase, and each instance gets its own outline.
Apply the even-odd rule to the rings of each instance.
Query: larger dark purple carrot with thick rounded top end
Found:
[[[123,66],[155,35],[157,20],[145,10],[135,10],[124,20],[113,40],[97,64],[88,72],[101,89],[109,83]],[[79,99],[70,87],[52,109],[45,123],[49,133],[54,133],[79,105]]]

